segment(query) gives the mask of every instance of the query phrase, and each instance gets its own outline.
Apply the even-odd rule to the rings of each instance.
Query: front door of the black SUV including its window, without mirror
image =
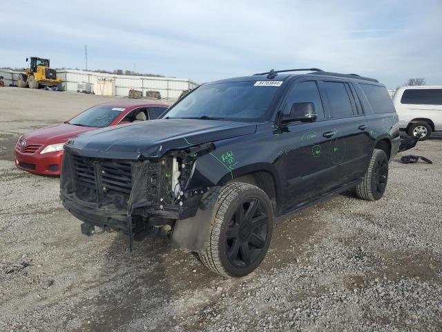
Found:
[[[333,186],[334,163],[329,158],[333,124],[326,120],[323,101],[315,80],[294,82],[283,112],[296,102],[313,102],[318,114],[314,122],[290,122],[276,130],[280,151],[276,167],[284,190],[283,210],[298,208]]]

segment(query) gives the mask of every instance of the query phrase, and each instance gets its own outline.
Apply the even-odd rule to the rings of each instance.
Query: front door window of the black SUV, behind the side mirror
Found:
[[[313,102],[318,113],[317,120],[324,120],[324,107],[320,99],[318,86],[314,81],[305,81],[296,83],[289,93],[287,93],[287,104],[285,106],[285,114],[290,113],[291,105],[295,102]]]

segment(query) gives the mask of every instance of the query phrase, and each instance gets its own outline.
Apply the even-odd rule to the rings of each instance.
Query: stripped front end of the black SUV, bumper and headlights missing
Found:
[[[189,189],[195,161],[214,149],[204,143],[167,151],[161,157],[137,160],[82,156],[65,146],[60,198],[71,214],[83,221],[81,232],[95,226],[133,238],[149,229],[195,216],[208,187]]]

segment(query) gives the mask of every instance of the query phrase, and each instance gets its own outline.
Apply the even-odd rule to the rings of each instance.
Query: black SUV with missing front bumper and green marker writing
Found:
[[[84,234],[118,230],[132,249],[160,230],[215,273],[242,277],[276,219],[351,188],[381,199],[398,129],[385,86],[367,77],[309,68],[220,80],[160,120],[68,141],[61,200]]]

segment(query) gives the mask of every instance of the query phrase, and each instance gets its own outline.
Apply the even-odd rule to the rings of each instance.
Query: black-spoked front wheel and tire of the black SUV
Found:
[[[220,190],[202,264],[223,277],[244,277],[267,254],[273,234],[273,208],[265,192],[247,183],[228,183]]]

